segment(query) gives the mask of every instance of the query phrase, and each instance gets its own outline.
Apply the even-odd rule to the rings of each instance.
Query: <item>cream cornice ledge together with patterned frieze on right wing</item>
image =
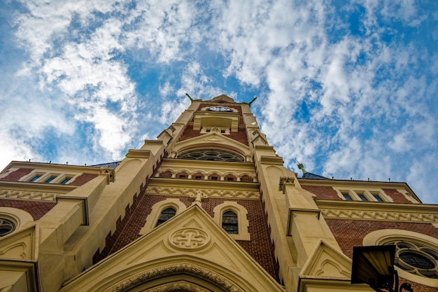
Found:
[[[402,222],[438,222],[438,206],[430,204],[398,204],[316,200],[325,218],[362,219]]]

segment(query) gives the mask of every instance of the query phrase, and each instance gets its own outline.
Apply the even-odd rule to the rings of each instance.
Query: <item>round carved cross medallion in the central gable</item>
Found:
[[[172,233],[169,242],[177,249],[202,249],[210,242],[210,236],[200,229],[184,228]]]

